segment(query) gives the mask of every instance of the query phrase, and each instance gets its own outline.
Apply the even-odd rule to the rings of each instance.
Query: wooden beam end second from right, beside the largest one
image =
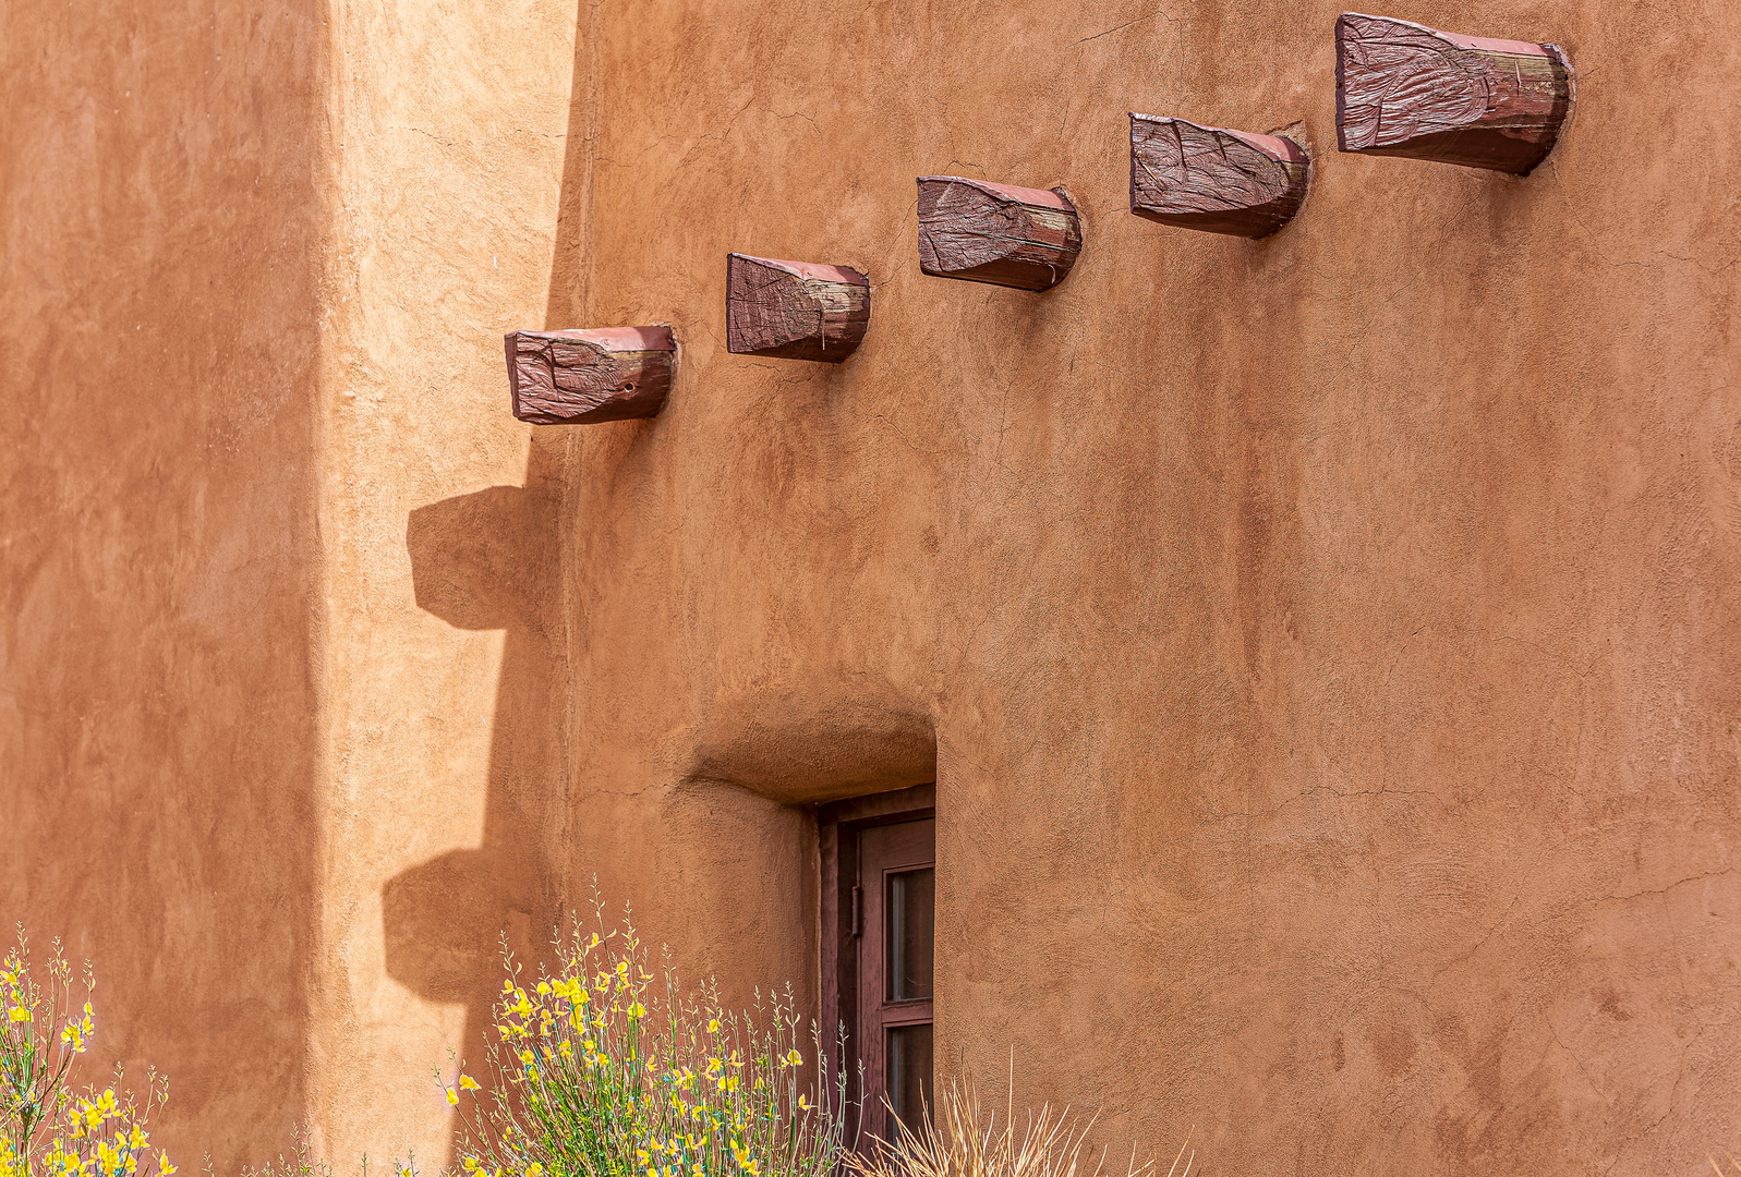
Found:
[[[1269,237],[1299,212],[1309,169],[1283,136],[1130,115],[1130,211],[1161,225]]]

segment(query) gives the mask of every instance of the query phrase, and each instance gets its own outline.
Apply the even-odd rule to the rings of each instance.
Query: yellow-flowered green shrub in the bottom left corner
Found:
[[[115,1081],[77,1088],[78,1062],[96,1038],[87,963],[75,979],[54,947],[33,968],[24,928],[0,959],[0,1177],[169,1177],[176,1167],[150,1151],[146,1121],[169,1083],[146,1073],[139,1102]],[[75,1008],[80,1006],[80,1008]]]

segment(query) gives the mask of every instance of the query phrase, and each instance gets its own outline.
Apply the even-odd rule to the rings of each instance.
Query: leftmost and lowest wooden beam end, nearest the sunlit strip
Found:
[[[514,416],[534,425],[594,425],[656,416],[677,367],[670,327],[510,331]]]

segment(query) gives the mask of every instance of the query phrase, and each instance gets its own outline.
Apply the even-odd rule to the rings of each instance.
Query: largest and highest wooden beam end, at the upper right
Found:
[[[1558,45],[1360,12],[1335,21],[1335,138],[1344,151],[1527,176],[1570,111],[1572,63]]]

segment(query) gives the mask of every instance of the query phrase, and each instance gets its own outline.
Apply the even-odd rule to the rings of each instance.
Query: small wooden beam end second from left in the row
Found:
[[[731,254],[726,348],[839,364],[870,326],[870,279],[851,266]]]

